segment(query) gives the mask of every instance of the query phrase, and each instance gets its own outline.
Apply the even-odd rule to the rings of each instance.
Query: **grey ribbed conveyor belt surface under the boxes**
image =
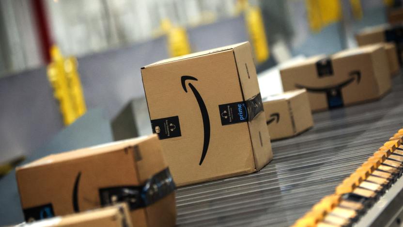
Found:
[[[260,172],[179,188],[181,226],[290,226],[403,127],[403,78],[379,101],[317,113],[314,128],[273,142]]]

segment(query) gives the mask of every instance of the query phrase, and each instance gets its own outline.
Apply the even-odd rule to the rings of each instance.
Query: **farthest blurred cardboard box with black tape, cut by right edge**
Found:
[[[403,25],[380,25],[368,27],[356,34],[358,46],[378,43],[393,43],[396,46],[399,67],[403,60]]]

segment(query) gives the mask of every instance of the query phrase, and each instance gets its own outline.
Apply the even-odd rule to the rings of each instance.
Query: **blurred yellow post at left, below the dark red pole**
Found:
[[[47,78],[53,87],[53,95],[59,101],[64,125],[70,125],[87,111],[75,57],[64,58],[60,49],[50,49],[51,62],[47,66]]]

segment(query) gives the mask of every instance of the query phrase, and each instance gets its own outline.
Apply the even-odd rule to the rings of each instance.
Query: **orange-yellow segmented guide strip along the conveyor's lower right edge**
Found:
[[[353,224],[369,204],[402,176],[403,129],[399,130],[339,184],[333,195],[327,195],[294,223],[294,227],[330,227]]]

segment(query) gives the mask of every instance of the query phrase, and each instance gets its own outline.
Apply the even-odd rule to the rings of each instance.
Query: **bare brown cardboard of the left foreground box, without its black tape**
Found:
[[[17,168],[16,178],[23,209],[51,203],[55,215],[65,215],[75,212],[72,194],[78,175],[78,208],[86,211],[101,205],[100,188],[140,186],[166,167],[158,138],[153,135],[50,155]],[[131,211],[133,223],[174,225],[173,198],[172,193],[146,209]],[[159,203],[166,205],[164,209],[158,208]]]

